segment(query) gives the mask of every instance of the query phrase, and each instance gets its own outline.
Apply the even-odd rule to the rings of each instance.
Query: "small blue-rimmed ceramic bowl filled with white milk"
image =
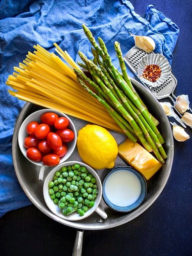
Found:
[[[147,183],[144,177],[129,166],[118,166],[106,175],[102,197],[112,210],[128,213],[137,209],[146,199]]]

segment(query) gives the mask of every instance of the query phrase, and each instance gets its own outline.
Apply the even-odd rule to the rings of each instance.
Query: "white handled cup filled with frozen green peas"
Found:
[[[94,211],[107,218],[99,208],[101,180],[83,162],[63,162],[52,169],[45,178],[43,196],[49,210],[62,219],[79,221]]]

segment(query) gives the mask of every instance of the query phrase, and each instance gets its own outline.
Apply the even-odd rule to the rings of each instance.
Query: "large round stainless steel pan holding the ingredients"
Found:
[[[131,78],[131,82],[134,85],[135,89],[142,96],[143,101],[149,108],[149,111],[159,120],[160,124],[158,126],[159,130],[163,134],[165,139],[165,150],[167,152],[166,163],[163,165],[160,171],[158,171],[148,182],[148,191],[146,201],[136,209],[135,211],[129,214],[120,214],[112,211],[107,207],[104,203],[103,199],[101,200],[100,207],[107,213],[107,219],[101,219],[101,217],[94,212],[91,216],[81,221],[70,222],[64,219],[61,219],[54,215],[46,206],[44,198],[43,198],[43,181],[39,181],[38,179],[38,169],[29,162],[23,154],[20,152],[18,145],[18,131],[23,120],[32,112],[41,109],[40,106],[26,103],[23,110],[20,112],[19,117],[17,119],[14,134],[13,134],[13,143],[12,143],[12,154],[13,154],[13,163],[15,172],[18,178],[18,181],[25,191],[28,198],[31,202],[44,214],[54,219],[55,221],[67,225],[77,229],[77,236],[74,246],[73,255],[81,255],[82,252],[82,240],[83,240],[83,232],[84,230],[99,230],[99,229],[108,229],[123,225],[132,219],[136,218],[140,214],[142,214],[145,210],[147,210],[151,204],[159,197],[164,186],[167,183],[169,174],[171,172],[173,156],[174,156],[174,144],[173,144],[173,134],[171,130],[171,126],[165,115],[161,105],[158,100],[154,97],[154,95],[146,89],[142,84],[135,81]],[[80,120],[74,117],[71,117],[73,122],[75,123],[77,131],[85,126],[87,122],[84,120]],[[113,136],[116,138],[117,143],[121,143],[125,136],[116,132],[112,132]],[[70,160],[81,160],[77,150],[72,154],[72,156],[68,159]],[[117,157],[115,162],[115,166],[125,165],[125,163]],[[48,168],[48,172],[51,168]],[[101,181],[104,176],[108,172],[108,169],[100,170],[98,175],[100,176]]]

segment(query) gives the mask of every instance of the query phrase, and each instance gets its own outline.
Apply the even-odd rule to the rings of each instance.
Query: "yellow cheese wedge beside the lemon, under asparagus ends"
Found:
[[[126,139],[118,146],[118,155],[149,180],[162,166],[144,147]]]

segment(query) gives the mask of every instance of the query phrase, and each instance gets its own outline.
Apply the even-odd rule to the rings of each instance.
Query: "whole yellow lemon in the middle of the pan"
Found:
[[[86,125],[78,131],[77,150],[94,169],[113,168],[118,154],[115,138],[99,125]]]

